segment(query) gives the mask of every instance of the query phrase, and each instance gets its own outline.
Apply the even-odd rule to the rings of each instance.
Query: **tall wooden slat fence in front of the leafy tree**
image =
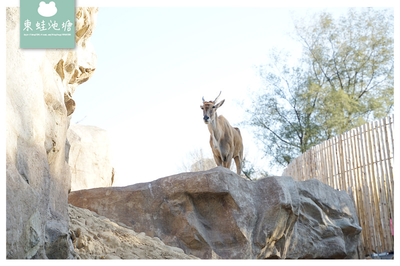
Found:
[[[296,181],[318,179],[352,197],[365,254],[393,252],[394,115],[328,139],[283,171]]]

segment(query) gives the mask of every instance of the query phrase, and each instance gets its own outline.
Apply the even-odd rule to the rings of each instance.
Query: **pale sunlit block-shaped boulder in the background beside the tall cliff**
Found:
[[[107,131],[95,126],[70,124],[67,138],[71,191],[111,187],[115,180]]]

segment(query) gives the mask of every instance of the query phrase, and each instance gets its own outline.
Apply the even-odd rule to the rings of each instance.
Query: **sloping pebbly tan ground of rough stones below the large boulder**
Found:
[[[131,227],[111,221],[86,209],[69,206],[73,248],[78,259],[198,259],[158,238],[136,233]]]

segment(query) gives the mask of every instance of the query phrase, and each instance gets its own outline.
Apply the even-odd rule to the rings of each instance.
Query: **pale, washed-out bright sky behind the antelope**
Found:
[[[186,1],[75,1],[76,6],[100,8],[91,37],[96,70],[75,90],[71,123],[108,131],[116,186],[177,174],[185,156],[196,149],[211,157],[201,98],[213,100],[222,91],[220,99],[225,102],[217,113],[238,126],[252,92],[261,86],[256,67],[268,63],[270,50],[301,51],[289,36],[293,18],[323,10],[336,16],[348,9],[243,7],[261,6],[251,0],[233,2],[241,7],[227,7],[228,1],[196,5],[225,7],[159,7],[161,3],[187,5]],[[106,7],[111,4],[118,6]],[[19,1],[8,6],[18,5]],[[132,7],[140,5],[152,7]],[[282,169],[269,169],[268,158],[262,157],[249,128],[238,127],[247,159],[280,175]]]

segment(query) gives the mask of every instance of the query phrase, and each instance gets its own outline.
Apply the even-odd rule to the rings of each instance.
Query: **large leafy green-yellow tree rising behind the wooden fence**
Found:
[[[392,10],[322,12],[295,22],[302,55],[295,66],[273,50],[260,66],[264,87],[247,109],[273,163],[286,166],[310,147],[393,111]]]

